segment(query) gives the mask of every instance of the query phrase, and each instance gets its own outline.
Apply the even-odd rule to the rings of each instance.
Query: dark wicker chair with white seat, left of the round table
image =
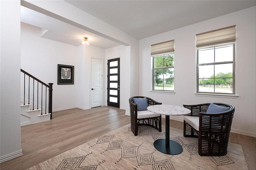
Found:
[[[148,125],[154,127],[158,131],[162,131],[162,117],[159,114],[150,111],[137,111],[137,104],[134,103],[134,98],[144,98],[144,96],[134,96],[129,99],[130,117],[131,117],[131,131],[134,136],[138,135],[139,125]],[[146,97],[148,106],[162,104]]]

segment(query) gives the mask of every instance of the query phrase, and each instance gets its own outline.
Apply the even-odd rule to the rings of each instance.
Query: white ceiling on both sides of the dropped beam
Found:
[[[143,39],[256,5],[256,0],[65,1],[136,39]],[[88,36],[91,45],[102,49],[120,45],[23,6],[21,8],[21,21],[42,28],[44,38],[78,46],[81,45],[82,37]]]

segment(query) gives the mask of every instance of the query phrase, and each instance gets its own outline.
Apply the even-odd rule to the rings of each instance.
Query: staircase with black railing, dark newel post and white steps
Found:
[[[52,119],[52,85],[46,84],[28,72],[21,71],[20,125],[29,125]],[[48,93],[47,93],[48,90]]]

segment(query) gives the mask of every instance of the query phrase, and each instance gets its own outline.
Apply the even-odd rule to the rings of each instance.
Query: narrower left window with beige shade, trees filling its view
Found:
[[[174,91],[174,40],[151,46],[152,90]]]

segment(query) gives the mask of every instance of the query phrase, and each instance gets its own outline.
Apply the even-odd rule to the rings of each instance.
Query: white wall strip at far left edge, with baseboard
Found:
[[[22,155],[20,1],[0,1],[0,162]]]

